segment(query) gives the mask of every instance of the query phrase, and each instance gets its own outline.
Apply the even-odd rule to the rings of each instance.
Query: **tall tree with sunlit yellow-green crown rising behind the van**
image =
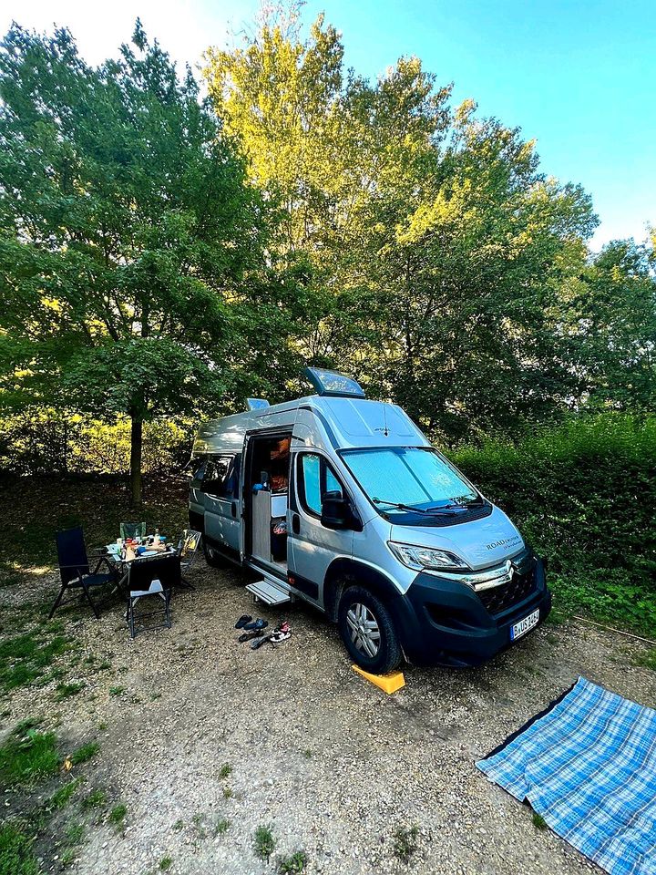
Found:
[[[323,16],[265,17],[206,54],[210,96],[254,179],[280,197],[285,252],[312,265],[318,364],[364,375],[456,440],[542,417],[579,392],[562,322],[596,219],[534,144],[472,101],[449,106],[415,58],[374,84],[343,72]]]

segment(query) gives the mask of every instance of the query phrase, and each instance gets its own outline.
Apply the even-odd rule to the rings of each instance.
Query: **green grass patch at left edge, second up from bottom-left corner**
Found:
[[[55,733],[37,732],[34,723],[19,723],[0,747],[0,786],[34,784],[59,767]]]

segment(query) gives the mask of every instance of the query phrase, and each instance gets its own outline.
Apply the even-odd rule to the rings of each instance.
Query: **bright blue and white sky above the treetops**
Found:
[[[115,54],[137,15],[179,61],[196,63],[252,21],[257,0],[4,0],[3,32],[68,26],[91,62]],[[343,33],[346,62],[376,77],[417,55],[456,102],[537,139],[542,169],[580,182],[600,229],[593,245],[656,225],[656,5],[653,0],[309,0]]]

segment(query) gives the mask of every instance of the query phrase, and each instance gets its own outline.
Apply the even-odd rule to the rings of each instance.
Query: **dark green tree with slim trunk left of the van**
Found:
[[[231,386],[235,301],[262,283],[268,211],[220,120],[139,22],[92,68],[67,30],[0,46],[5,406],[145,420]]]

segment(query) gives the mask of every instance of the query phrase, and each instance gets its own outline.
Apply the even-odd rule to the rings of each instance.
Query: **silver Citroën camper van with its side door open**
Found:
[[[542,623],[544,566],[506,514],[400,407],[306,374],[316,395],[200,427],[190,525],[210,565],[254,572],[262,602],[310,602],[374,673],[480,664]]]

